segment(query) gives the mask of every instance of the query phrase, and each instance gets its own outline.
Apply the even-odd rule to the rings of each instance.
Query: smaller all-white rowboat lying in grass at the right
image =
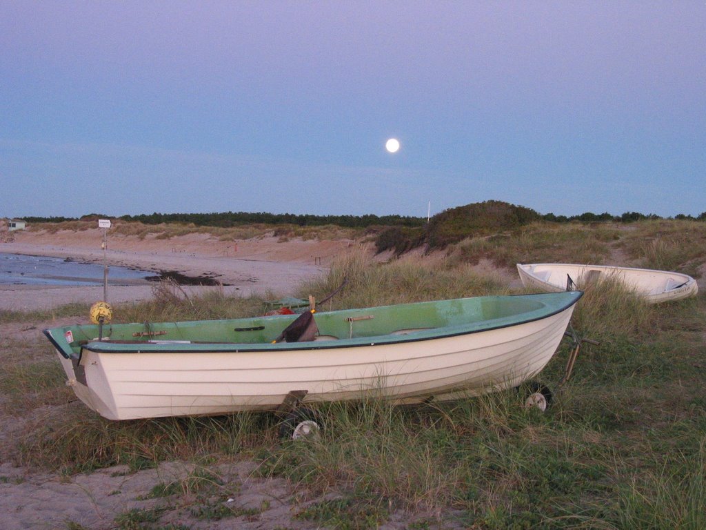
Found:
[[[589,278],[614,278],[650,304],[682,300],[695,296],[698,285],[690,276],[677,272],[631,267],[579,264],[517,264],[522,285],[549,292],[566,290],[567,276],[585,288]]]

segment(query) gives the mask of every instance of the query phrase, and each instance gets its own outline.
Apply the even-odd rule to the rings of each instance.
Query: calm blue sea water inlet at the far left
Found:
[[[136,271],[111,266],[108,281],[139,280],[155,276],[150,271]],[[102,285],[103,265],[78,263],[65,258],[24,256],[0,253],[0,285]]]

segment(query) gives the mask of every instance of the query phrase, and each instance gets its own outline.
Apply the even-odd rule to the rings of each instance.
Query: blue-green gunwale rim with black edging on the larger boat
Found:
[[[560,293],[535,293],[529,295],[506,295],[508,297],[525,297],[525,298],[540,298],[546,297],[546,295],[555,295]],[[500,317],[496,320],[505,320],[501,324],[483,326],[478,329],[467,329],[469,324],[461,324],[460,326],[465,326],[466,329],[460,331],[452,331],[444,333],[444,329],[457,328],[460,326],[446,326],[441,328],[433,328],[424,331],[414,331],[410,334],[405,335],[392,335],[383,334],[375,336],[364,336],[357,338],[340,338],[332,341],[306,341],[306,342],[281,342],[281,343],[223,343],[223,342],[203,342],[203,343],[148,343],[148,342],[135,342],[135,343],[110,343],[106,341],[90,341],[84,346],[81,346],[81,351],[79,358],[83,356],[83,351],[90,351],[92,353],[115,353],[115,354],[134,354],[134,353],[275,353],[275,352],[291,352],[291,351],[313,351],[313,350],[330,350],[330,349],[343,349],[343,348],[362,348],[369,346],[378,345],[395,345],[395,344],[405,344],[421,341],[433,341],[441,338],[453,338],[456,336],[472,335],[477,333],[483,333],[486,331],[493,331],[497,329],[503,329],[513,326],[520,326],[522,324],[529,324],[530,322],[537,322],[540,320],[548,319],[556,314],[560,314],[568,310],[570,307],[580,300],[583,295],[582,290],[575,291],[563,291],[561,294],[572,294],[573,296],[569,300],[561,305],[560,307],[553,308],[549,312],[544,312],[539,315],[527,319],[513,320],[512,322],[507,322],[507,317]],[[494,297],[473,297],[473,298],[494,298]],[[458,299],[462,300],[462,299]],[[429,302],[444,302],[445,300],[430,300]],[[416,302],[413,302],[416,303]],[[424,303],[424,302],[422,302]],[[394,307],[394,306],[380,306],[380,307]],[[546,308],[546,305],[545,305]],[[355,310],[373,310],[375,307],[364,307],[355,308]],[[350,311],[350,310],[341,310]],[[527,314],[534,314],[537,310],[532,310]],[[239,320],[239,319],[234,319]],[[186,321],[186,322],[196,322],[196,321]],[[179,324],[179,323],[177,323]],[[117,324],[121,325],[121,324]],[[62,329],[62,328],[55,328]],[[59,346],[54,338],[51,336],[51,329],[45,329],[44,334],[47,335],[49,341],[54,344],[54,347],[58,351],[62,352],[63,348]],[[130,348],[129,346],[133,346]],[[137,347],[134,347],[137,346]]]

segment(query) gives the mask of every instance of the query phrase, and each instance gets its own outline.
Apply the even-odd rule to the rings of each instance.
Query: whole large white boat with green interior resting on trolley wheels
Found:
[[[112,420],[274,410],[292,395],[313,402],[373,393],[416,403],[534,377],[554,355],[581,295],[322,312],[300,341],[285,336],[289,342],[280,341],[283,331],[303,317],[76,324],[44,334],[76,395]]]

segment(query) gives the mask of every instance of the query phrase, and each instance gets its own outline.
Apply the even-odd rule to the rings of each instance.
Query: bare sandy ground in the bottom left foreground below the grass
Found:
[[[215,507],[228,507],[234,515],[220,520],[199,521],[191,510],[203,505],[195,495],[183,493],[150,497],[157,484],[179,484],[196,466],[185,462],[164,462],[157,469],[136,473],[127,466],[114,466],[93,473],[62,477],[49,473],[30,476],[17,468],[0,465],[6,477],[0,483],[0,524],[3,530],[80,528],[112,530],[129,510],[157,510],[159,527],[174,524],[191,529],[265,529],[277,526],[311,528],[294,515],[294,488],[284,479],[253,478],[251,462],[210,466],[222,485],[208,495]],[[242,511],[242,515],[238,513]],[[188,526],[186,526],[188,523]],[[285,526],[283,526],[285,525]],[[129,526],[133,528],[133,526]],[[152,528],[152,526],[149,526]]]

